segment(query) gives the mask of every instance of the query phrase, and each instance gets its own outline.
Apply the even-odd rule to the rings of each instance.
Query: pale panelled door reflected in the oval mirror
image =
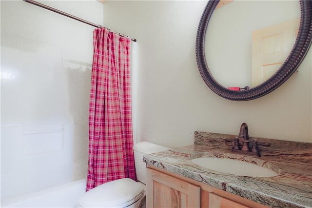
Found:
[[[281,67],[292,50],[300,19],[286,21],[253,31],[252,87],[257,86]]]

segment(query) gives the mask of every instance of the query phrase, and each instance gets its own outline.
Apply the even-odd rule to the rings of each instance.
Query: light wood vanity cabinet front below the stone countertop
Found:
[[[146,173],[147,208],[268,208],[156,167]]]

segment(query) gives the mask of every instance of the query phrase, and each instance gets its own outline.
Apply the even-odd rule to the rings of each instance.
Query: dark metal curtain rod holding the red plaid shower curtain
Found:
[[[81,18],[75,17],[75,16],[73,16],[73,15],[70,15],[70,14],[68,14],[68,13],[62,12],[62,11],[60,11],[60,10],[58,10],[58,9],[55,9],[55,8],[53,8],[53,7],[47,6],[47,5],[45,5],[45,4],[39,3],[39,2],[34,1],[34,0],[23,0],[23,1],[25,1],[25,2],[27,2],[27,3],[34,4],[34,5],[39,6],[39,7],[42,7],[42,8],[44,8],[44,9],[50,10],[50,11],[52,11],[52,12],[56,12],[56,13],[58,13],[58,14],[64,15],[64,16],[66,16],[66,17],[69,17],[69,18],[71,18],[71,19],[74,19],[74,20],[77,20],[77,21],[81,21],[81,22],[83,22],[83,23],[89,24],[89,25],[94,26],[94,27],[98,27],[98,28],[103,27],[103,26],[100,25],[100,24],[95,24],[95,23],[92,23],[92,22],[90,22],[90,21],[83,20],[83,19],[81,19]],[[103,27],[103,28],[106,28],[106,27]],[[108,29],[109,31],[111,31],[109,28],[106,28],[106,29]],[[129,36],[123,35],[123,34],[121,34],[121,33],[117,33],[117,32],[115,32],[115,31],[111,31],[111,32],[116,33],[116,34],[118,34],[118,35],[120,35],[120,36],[122,36],[122,37],[130,38],[131,41],[133,41],[133,42],[137,42],[137,39],[135,39],[135,38],[131,38],[131,37],[129,37]]]

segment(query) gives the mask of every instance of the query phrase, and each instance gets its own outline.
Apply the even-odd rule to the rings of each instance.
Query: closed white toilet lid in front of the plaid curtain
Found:
[[[127,207],[142,197],[143,193],[139,183],[130,178],[122,178],[89,190],[78,203],[85,208]]]

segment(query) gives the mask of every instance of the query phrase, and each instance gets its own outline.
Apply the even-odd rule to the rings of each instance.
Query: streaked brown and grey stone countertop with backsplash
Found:
[[[150,166],[225,190],[273,208],[312,207],[312,143],[257,139],[261,157],[231,151],[235,135],[195,132],[195,144],[145,155]],[[207,156],[251,162],[279,173],[274,177],[247,177],[197,166],[191,159]]]

